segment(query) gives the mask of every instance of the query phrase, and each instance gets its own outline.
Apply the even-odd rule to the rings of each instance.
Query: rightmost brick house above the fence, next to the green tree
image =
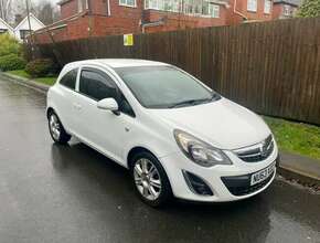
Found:
[[[273,19],[292,18],[300,4],[300,0],[275,0]]]

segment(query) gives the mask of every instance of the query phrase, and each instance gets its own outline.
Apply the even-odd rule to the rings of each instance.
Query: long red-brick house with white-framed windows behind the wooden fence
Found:
[[[151,33],[273,19],[273,0],[61,0],[61,21],[36,32],[40,43]]]

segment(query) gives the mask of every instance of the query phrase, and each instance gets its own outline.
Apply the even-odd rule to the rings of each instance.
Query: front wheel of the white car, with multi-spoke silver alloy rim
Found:
[[[152,154],[139,152],[131,158],[130,165],[136,192],[145,203],[160,208],[172,199],[168,176]]]

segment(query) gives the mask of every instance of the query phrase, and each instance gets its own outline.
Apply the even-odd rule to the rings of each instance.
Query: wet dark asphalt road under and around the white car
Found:
[[[0,242],[320,242],[320,196],[277,180],[228,204],[148,208],[125,169],[53,145],[45,95],[0,77]]]

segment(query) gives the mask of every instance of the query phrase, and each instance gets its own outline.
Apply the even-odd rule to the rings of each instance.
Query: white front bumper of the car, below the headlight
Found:
[[[236,201],[260,193],[274,181],[276,168],[266,180],[250,186],[250,176],[253,173],[268,168],[273,163],[276,165],[278,159],[277,146],[275,146],[273,154],[267,159],[259,162],[245,162],[232,151],[225,151],[225,154],[233,161],[233,165],[204,168],[191,161],[181,151],[160,158],[169,177],[174,197],[201,202]],[[203,196],[194,192],[190,183],[188,183],[183,171],[191,172],[202,179],[211,189],[213,196]]]

